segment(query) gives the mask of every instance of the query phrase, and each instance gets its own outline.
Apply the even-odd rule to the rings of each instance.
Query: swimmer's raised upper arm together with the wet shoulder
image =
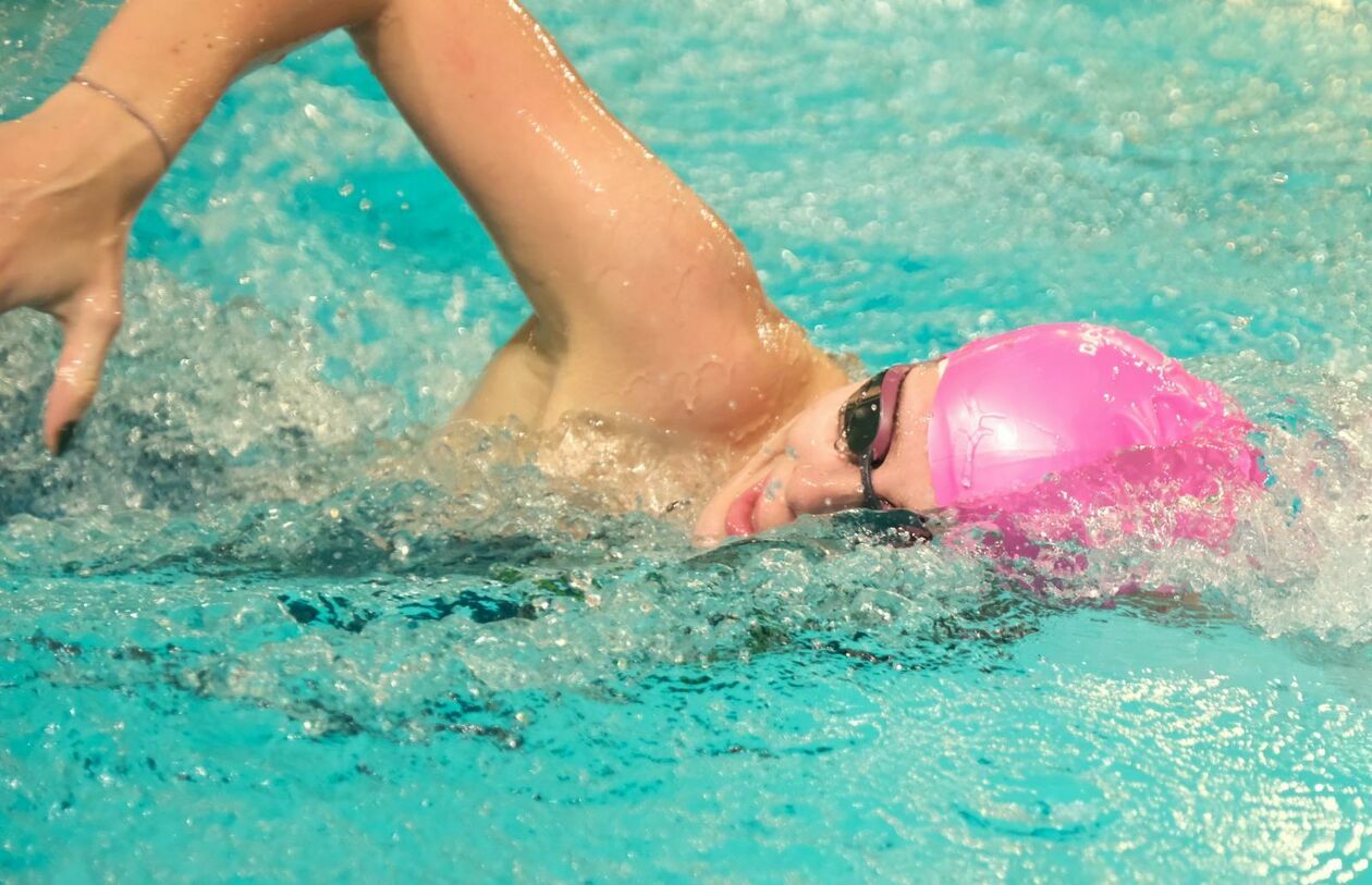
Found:
[[[563,347],[545,417],[737,436],[834,376],[727,225],[516,3],[391,0],[355,37]]]

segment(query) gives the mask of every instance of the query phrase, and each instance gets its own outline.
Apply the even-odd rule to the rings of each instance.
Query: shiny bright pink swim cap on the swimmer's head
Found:
[[[1251,429],[1218,387],[1126,332],[1034,325],[948,355],[929,465],[937,504],[956,506],[959,521],[1070,517],[1078,528],[1063,531],[1081,541],[1092,509],[1157,510],[1261,486]],[[1232,506],[1222,509],[1172,508],[1173,535],[1221,543],[1235,523]]]

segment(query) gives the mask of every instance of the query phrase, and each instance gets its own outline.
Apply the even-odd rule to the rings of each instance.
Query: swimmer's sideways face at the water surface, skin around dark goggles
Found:
[[[915,366],[906,379],[890,451],[873,472],[877,494],[897,508],[934,508],[927,432],[936,384],[933,364]],[[716,545],[793,523],[804,513],[863,506],[862,475],[840,443],[840,410],[859,387],[845,384],[825,394],[777,431],[705,505],[696,542]]]

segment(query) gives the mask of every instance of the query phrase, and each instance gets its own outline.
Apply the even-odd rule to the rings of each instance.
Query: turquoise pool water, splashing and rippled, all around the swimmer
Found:
[[[0,318],[0,881],[1372,877],[1367,12],[531,7],[825,346],[1121,325],[1268,498],[1036,595],[818,520],[702,554],[512,434],[424,462],[523,300],[328,40],[150,202],[60,464]],[[110,8],[7,3],[0,115]]]

